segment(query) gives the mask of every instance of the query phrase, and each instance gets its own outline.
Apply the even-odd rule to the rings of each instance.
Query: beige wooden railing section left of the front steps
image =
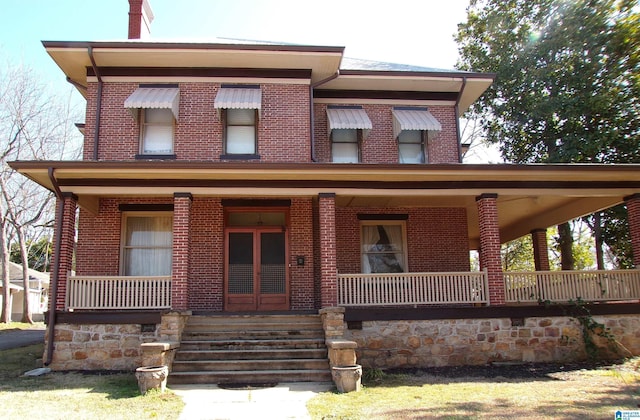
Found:
[[[171,307],[171,276],[71,276],[67,309],[164,309]]]

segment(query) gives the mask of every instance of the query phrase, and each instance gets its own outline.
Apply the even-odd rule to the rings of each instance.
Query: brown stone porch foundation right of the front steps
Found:
[[[640,315],[594,316],[621,344],[606,357],[640,355]],[[497,361],[567,362],[586,358],[582,330],[569,317],[364,321],[346,330],[358,363],[372,368],[481,365]],[[606,347],[607,340],[596,342]],[[624,347],[624,348],[623,348]],[[606,349],[605,349],[606,350]]]

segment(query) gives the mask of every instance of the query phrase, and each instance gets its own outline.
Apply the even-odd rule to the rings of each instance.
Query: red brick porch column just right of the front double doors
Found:
[[[338,305],[338,268],[336,265],[336,196],[319,195],[320,217],[320,304]]]

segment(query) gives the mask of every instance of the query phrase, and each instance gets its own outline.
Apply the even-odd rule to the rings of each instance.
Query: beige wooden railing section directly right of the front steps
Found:
[[[485,272],[339,274],[338,305],[488,303]]]

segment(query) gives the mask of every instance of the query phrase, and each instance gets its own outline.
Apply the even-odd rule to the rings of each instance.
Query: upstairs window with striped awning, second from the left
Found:
[[[221,159],[257,159],[262,90],[257,85],[222,85],[214,107],[223,119]]]

